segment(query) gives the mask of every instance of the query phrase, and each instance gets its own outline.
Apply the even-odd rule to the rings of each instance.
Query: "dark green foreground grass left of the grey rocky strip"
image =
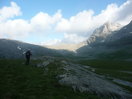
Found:
[[[89,93],[74,92],[58,83],[62,73],[59,64],[50,64],[48,71],[35,66],[39,60],[24,65],[24,60],[0,60],[0,99],[99,99]]]

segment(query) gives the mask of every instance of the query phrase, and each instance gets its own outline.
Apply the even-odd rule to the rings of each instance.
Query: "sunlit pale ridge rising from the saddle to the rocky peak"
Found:
[[[109,34],[111,34],[115,30],[119,30],[122,26],[118,23],[110,23],[107,22],[103,26],[97,28],[91,37],[84,42],[80,42],[77,44],[56,44],[51,46],[46,46],[48,48],[57,49],[57,50],[69,50],[69,51],[76,51],[78,48],[83,47],[87,44],[90,44],[95,41],[103,41]]]

